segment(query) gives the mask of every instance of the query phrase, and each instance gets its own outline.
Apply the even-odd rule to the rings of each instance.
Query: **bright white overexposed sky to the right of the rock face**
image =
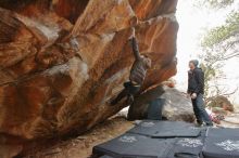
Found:
[[[179,30],[177,37],[177,75],[174,77],[176,87],[186,92],[187,91],[187,71],[188,62],[190,60],[199,60],[198,55],[203,53],[200,48],[202,35],[206,29],[218,26],[224,23],[226,18],[227,9],[219,12],[210,11],[207,9],[200,9],[193,4],[193,0],[179,0],[177,5],[177,21],[179,23]],[[226,63],[224,73],[227,80],[224,83],[230,89],[239,85],[239,71],[235,70],[239,66],[239,58],[234,58]],[[239,104],[237,97],[239,92],[231,96],[231,102]]]

